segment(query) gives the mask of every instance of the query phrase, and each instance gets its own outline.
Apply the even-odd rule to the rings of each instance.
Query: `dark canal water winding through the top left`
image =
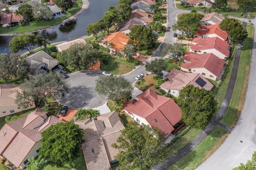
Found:
[[[89,0],[90,5],[84,13],[78,16],[77,21],[65,28],[59,26],[36,32],[37,34],[49,39],[51,43],[73,40],[85,36],[86,28],[90,23],[97,22],[107,11],[108,6],[115,6],[118,0]],[[42,21],[43,22],[43,21]],[[0,36],[0,53],[11,53],[9,43],[14,36]],[[21,52],[22,53],[22,52]]]

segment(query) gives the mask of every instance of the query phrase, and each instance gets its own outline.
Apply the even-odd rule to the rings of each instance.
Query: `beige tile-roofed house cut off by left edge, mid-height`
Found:
[[[0,84],[0,117],[23,111],[15,103],[19,90],[17,84]]]

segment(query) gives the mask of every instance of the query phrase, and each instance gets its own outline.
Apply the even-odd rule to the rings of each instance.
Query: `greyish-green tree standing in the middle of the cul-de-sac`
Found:
[[[111,100],[126,101],[132,95],[132,84],[122,76],[101,76],[95,90]]]

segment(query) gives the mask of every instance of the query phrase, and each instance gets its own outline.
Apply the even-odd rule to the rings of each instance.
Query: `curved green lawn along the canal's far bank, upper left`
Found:
[[[81,0],[76,1],[74,6],[67,11],[67,14],[56,18],[56,19],[51,19],[51,20],[45,20],[45,21],[33,21],[30,22],[26,26],[16,26],[13,28],[0,28],[0,34],[1,33],[18,33],[18,32],[25,32],[25,31],[31,31],[31,30],[37,30],[37,29],[43,29],[47,27],[51,27],[53,25],[61,23],[63,20],[66,20],[70,16],[76,14],[82,7],[83,3]]]

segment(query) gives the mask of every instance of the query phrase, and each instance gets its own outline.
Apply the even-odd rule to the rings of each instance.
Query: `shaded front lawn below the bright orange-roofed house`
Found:
[[[107,61],[105,62],[106,64],[103,61]],[[135,66],[135,63],[126,62],[124,58],[112,56],[107,52],[102,52],[102,56],[100,57],[100,70],[110,72],[114,75],[128,73]]]

